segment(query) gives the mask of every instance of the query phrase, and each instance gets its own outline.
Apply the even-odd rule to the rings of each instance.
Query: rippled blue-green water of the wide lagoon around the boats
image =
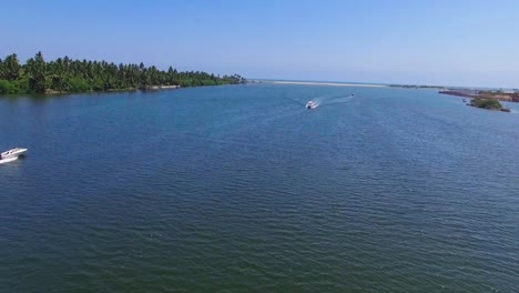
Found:
[[[30,149],[0,165],[0,292],[519,292],[511,107],[276,84],[0,99],[0,149]]]

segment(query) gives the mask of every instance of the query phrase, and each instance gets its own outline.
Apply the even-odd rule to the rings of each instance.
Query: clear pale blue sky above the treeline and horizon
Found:
[[[0,0],[0,58],[519,88],[519,1]]]

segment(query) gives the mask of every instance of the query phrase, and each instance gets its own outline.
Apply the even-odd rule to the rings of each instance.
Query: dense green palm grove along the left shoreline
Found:
[[[68,57],[45,62],[41,52],[20,64],[17,54],[0,59],[0,94],[88,92],[151,89],[162,85],[199,87],[244,83],[238,74],[214,75],[201,71],[162,71],[140,64],[72,60]]]

